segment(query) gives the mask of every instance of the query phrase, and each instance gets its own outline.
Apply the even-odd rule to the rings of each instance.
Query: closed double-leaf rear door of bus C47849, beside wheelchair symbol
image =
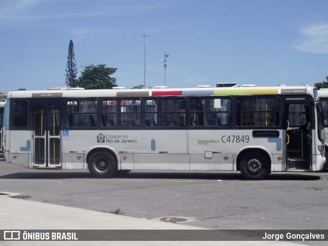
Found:
[[[33,107],[33,167],[61,167],[59,107]]]

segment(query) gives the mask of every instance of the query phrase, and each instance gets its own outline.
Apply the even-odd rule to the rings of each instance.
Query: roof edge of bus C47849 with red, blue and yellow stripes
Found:
[[[44,90],[11,91],[7,98],[58,98],[58,97],[125,97],[125,96],[197,96],[197,95],[278,95],[310,94],[315,97],[317,89],[312,86],[284,87],[211,87],[167,89],[121,89],[121,90]]]

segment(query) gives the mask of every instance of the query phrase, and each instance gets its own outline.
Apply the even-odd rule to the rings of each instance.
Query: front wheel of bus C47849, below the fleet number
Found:
[[[270,161],[258,151],[245,153],[239,162],[241,174],[250,180],[261,180],[270,173]]]

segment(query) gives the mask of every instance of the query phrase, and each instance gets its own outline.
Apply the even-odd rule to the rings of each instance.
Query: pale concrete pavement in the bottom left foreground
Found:
[[[7,232],[6,239],[8,238],[8,233],[15,232],[15,230],[24,230],[24,232],[27,233],[33,232],[31,230],[35,230],[35,231],[47,230],[50,233],[56,232],[56,230],[61,230],[61,231],[64,230],[67,232],[73,232],[75,230],[92,230],[92,231],[86,231],[87,233],[110,232],[106,230],[126,230],[126,232],[128,232],[125,236],[122,236],[122,239],[119,241],[3,240],[0,241],[0,245],[10,245],[10,246],[13,245],[22,245],[22,246],[23,245],[24,246],[25,245],[146,245],[146,246],[147,245],[177,245],[177,246],[179,245],[216,245],[216,246],[279,245],[280,246],[280,245],[297,244],[288,241],[198,241],[198,240],[179,241],[174,239],[173,234],[172,234],[172,238],[169,237],[170,234],[167,234],[168,238],[163,241],[157,241],[157,239],[155,239],[154,241],[149,241],[148,239],[146,239],[147,230],[158,230],[158,235],[161,236],[160,238],[162,238],[162,233],[167,233],[168,232],[167,230],[178,230],[177,231],[178,233],[186,232],[186,230],[188,230],[187,233],[190,233],[190,230],[196,230],[194,232],[199,233],[198,230],[206,230],[206,229],[190,227],[179,223],[162,222],[156,220],[117,215],[112,213],[104,213],[104,212],[96,212],[96,211],[84,210],[79,208],[72,208],[67,206],[58,206],[55,204],[49,204],[45,202],[17,199],[13,197],[19,197],[17,196],[18,194],[8,194],[1,191],[0,193],[1,193],[0,230],[6,230]],[[131,233],[131,231],[133,231],[134,233],[137,232],[138,237],[136,237],[135,241],[132,240],[125,241],[125,237],[128,238],[129,233]],[[23,236],[22,234],[23,233],[20,234],[21,238]],[[191,232],[191,234],[189,235],[192,234],[193,232]],[[146,235],[145,238],[143,235]],[[68,237],[69,236],[67,236],[67,238]],[[154,234],[154,237],[156,238],[156,233]],[[0,235],[0,238],[4,239],[5,235]],[[100,236],[100,238],[102,237]],[[71,237],[71,239],[75,239],[75,238]]]

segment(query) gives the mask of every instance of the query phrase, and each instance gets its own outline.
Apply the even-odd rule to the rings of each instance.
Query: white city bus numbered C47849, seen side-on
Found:
[[[229,170],[256,180],[325,163],[311,86],[12,91],[4,123],[7,162],[99,178]]]

